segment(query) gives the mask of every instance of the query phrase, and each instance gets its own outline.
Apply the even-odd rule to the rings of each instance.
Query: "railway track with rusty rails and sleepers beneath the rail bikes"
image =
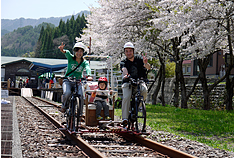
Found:
[[[45,102],[35,97],[24,99],[52,122],[57,130],[60,129],[57,132],[62,135],[62,138],[66,138],[64,141],[69,140],[70,148],[73,149],[72,151],[75,151],[75,153],[71,152],[70,155],[79,153],[82,155],[79,155],[80,157],[194,157],[146,139],[144,136],[128,132],[117,132],[116,134],[90,131],[81,135],[71,134],[69,131],[65,130],[64,126],[61,124],[61,122],[65,121],[65,118],[58,112],[58,105]],[[50,144],[50,146],[56,147],[59,146],[59,144]],[[55,150],[57,149],[54,149],[54,151]],[[57,153],[63,153],[61,149],[59,150],[60,151]]]

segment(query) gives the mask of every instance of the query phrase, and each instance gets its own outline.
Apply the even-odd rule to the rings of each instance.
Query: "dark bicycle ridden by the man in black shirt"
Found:
[[[145,132],[146,127],[146,108],[143,96],[140,94],[140,85],[144,83],[142,79],[133,79],[129,78],[129,82],[131,86],[137,87],[136,92],[132,92],[131,97],[131,111],[128,116],[128,128],[130,127],[134,129],[134,125],[136,127],[136,131],[138,133]]]

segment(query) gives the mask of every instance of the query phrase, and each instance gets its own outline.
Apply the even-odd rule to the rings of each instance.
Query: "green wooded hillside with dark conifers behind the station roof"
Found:
[[[76,19],[72,16],[66,22],[61,19],[58,27],[42,23],[35,27],[18,28],[1,38],[1,55],[65,58],[57,49],[59,44],[63,41],[66,49],[72,48],[75,37],[80,37],[86,23],[85,15],[82,14]]]

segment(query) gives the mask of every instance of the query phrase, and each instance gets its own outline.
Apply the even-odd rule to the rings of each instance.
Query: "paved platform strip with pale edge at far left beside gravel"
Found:
[[[1,157],[23,157],[15,96],[9,96],[1,102]]]

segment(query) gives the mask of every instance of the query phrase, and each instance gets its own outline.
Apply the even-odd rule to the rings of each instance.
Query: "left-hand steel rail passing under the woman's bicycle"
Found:
[[[87,154],[89,157],[95,157],[95,158],[106,158],[105,155],[103,155],[100,151],[98,151],[93,146],[89,145],[86,141],[84,141],[81,137],[77,137],[74,134],[68,132],[64,129],[64,126],[60,124],[57,120],[55,120],[53,117],[51,117],[49,114],[47,114],[43,109],[33,104],[31,101],[29,101],[27,98],[23,97],[25,100],[27,100],[32,106],[34,106],[36,109],[38,109],[51,123],[53,123],[64,135],[67,136],[69,140],[71,140],[72,143],[76,144],[85,154]],[[62,129],[62,130],[61,130]]]

